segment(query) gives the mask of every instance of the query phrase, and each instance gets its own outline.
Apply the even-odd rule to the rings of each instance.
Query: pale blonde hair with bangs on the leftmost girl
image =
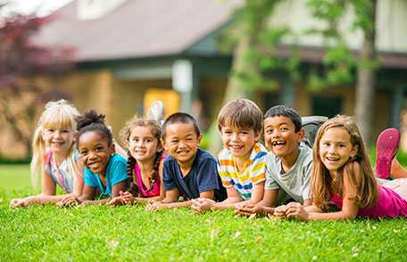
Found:
[[[69,129],[71,132],[75,132],[77,124],[75,118],[79,116],[79,111],[70,103],[64,99],[56,102],[47,102],[45,110],[42,112],[38,119],[37,128],[34,132],[32,140],[32,159],[30,164],[31,170],[31,183],[34,187],[37,186],[37,174],[41,170],[41,167],[46,162],[46,143],[43,139],[43,131],[46,128],[62,128]],[[76,166],[76,160],[74,155],[75,147],[71,144],[70,151],[66,158],[68,168],[70,170],[69,176],[75,180],[74,174],[78,172]]]

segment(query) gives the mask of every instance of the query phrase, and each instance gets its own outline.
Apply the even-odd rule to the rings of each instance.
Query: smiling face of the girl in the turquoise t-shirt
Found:
[[[96,131],[88,131],[79,136],[78,149],[83,164],[93,173],[105,176],[105,170],[114,146],[107,138]]]

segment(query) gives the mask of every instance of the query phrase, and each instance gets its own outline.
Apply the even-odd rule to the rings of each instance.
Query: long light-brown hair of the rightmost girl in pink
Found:
[[[344,128],[351,136],[351,143],[357,148],[354,158],[348,160],[339,169],[337,189],[333,188],[332,177],[320,159],[320,139],[325,132],[334,127]],[[344,174],[350,183],[357,188],[354,201],[359,208],[370,208],[378,201],[378,184],[370,166],[369,156],[361,139],[361,132],[356,122],[347,116],[336,116],[320,126],[313,147],[313,164],[311,170],[312,201],[323,211],[328,210],[328,201],[337,191],[343,198]]]

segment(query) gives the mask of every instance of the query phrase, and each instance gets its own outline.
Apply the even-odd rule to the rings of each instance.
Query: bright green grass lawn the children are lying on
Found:
[[[0,261],[407,260],[406,219],[303,223],[143,206],[10,209],[13,197],[32,192],[29,169],[0,167],[0,178]]]

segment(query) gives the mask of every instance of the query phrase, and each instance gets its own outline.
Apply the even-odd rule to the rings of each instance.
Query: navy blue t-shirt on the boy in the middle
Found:
[[[163,184],[165,191],[175,188],[188,200],[199,198],[201,192],[214,190],[215,201],[226,198],[226,189],[220,182],[216,159],[207,151],[198,148],[191,170],[182,176],[179,163],[168,156],[164,161]]]

